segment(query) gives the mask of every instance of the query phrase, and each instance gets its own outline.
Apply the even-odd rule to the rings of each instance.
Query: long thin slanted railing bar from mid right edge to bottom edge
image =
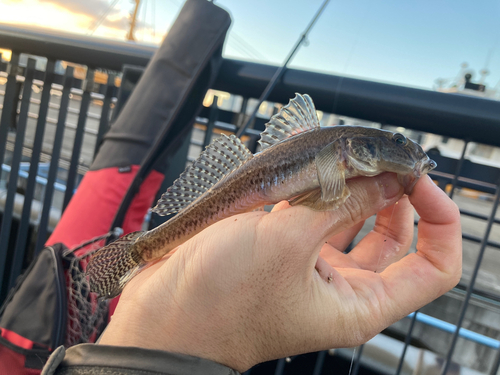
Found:
[[[467,288],[467,293],[465,294],[464,301],[462,302],[462,307],[460,309],[460,314],[458,317],[458,321],[456,323],[455,332],[453,333],[453,339],[451,341],[450,349],[448,350],[448,353],[446,355],[446,360],[443,364],[443,370],[441,371],[442,375],[445,375],[446,372],[448,371],[448,367],[449,367],[450,362],[451,362],[451,357],[453,356],[453,352],[455,351],[455,346],[456,346],[457,339],[458,339],[458,333],[459,333],[460,327],[462,326],[463,320],[465,318],[465,312],[467,311],[467,307],[469,305],[469,300],[470,300],[470,297],[472,296],[472,292],[474,290],[474,284],[476,282],[476,278],[477,278],[477,275],[479,273],[479,268],[481,267],[483,255],[484,255],[484,252],[485,252],[486,247],[488,245],[488,238],[489,238],[490,233],[491,233],[491,228],[493,227],[493,220],[494,220],[495,214],[497,212],[499,201],[500,201],[500,184],[497,186],[497,191],[495,194],[495,201],[493,203],[493,208],[491,210],[490,218],[489,218],[488,224],[486,226],[486,231],[485,231],[485,234],[483,237],[483,241],[481,242],[481,247],[479,249],[479,255],[477,257],[476,264],[474,266],[474,271],[472,272],[471,281],[469,283],[469,287]]]

